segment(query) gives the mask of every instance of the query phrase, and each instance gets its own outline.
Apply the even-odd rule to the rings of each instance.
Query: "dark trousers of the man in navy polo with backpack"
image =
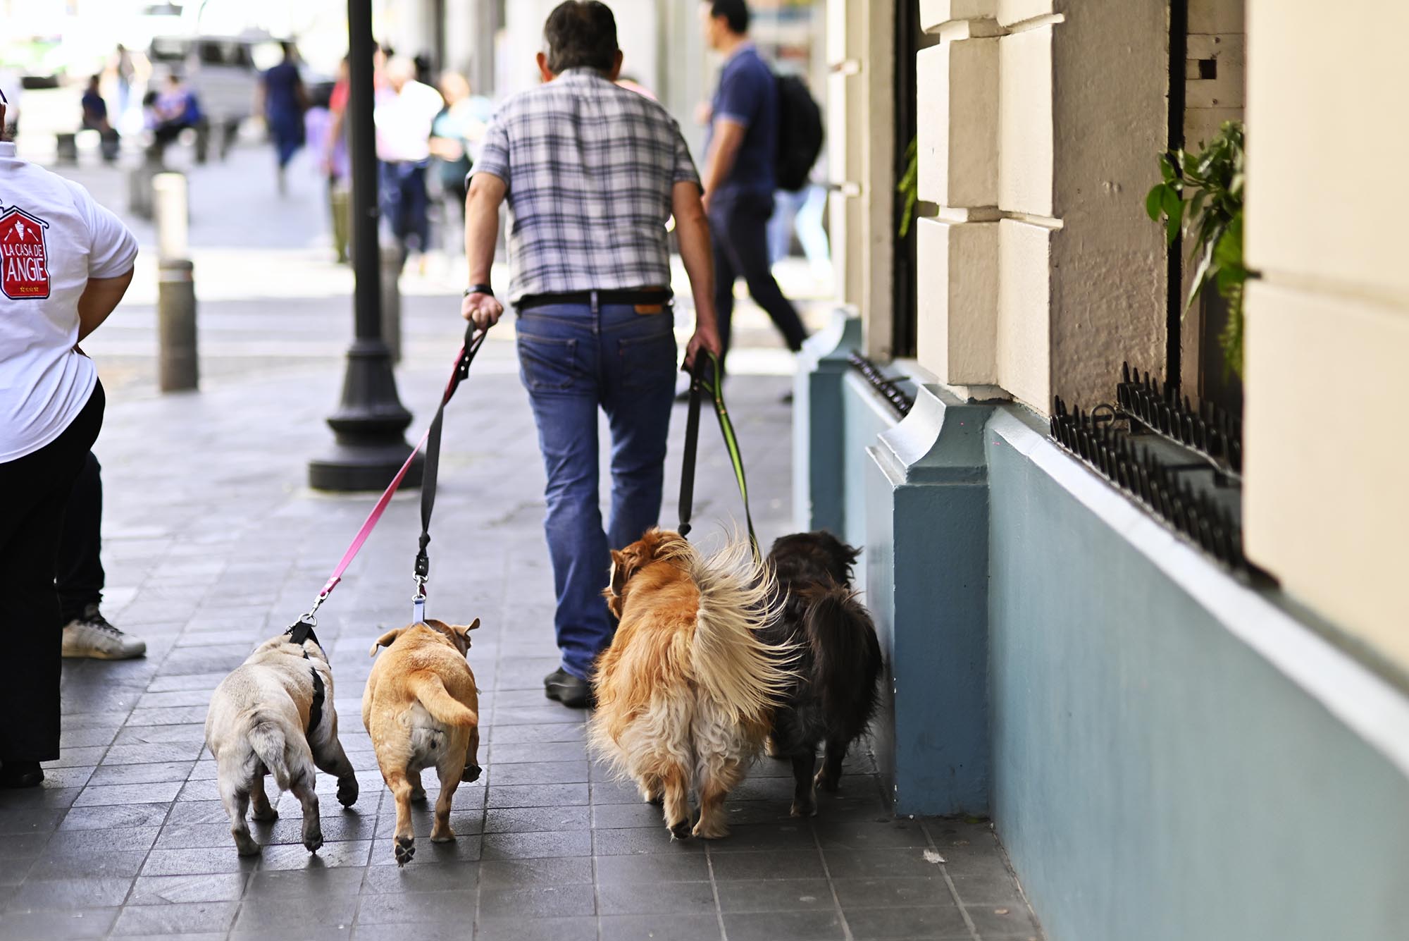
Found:
[[[774,213],[771,196],[731,197],[710,206],[709,230],[714,247],[714,310],[719,314],[719,338],[728,354],[733,332],[734,280],[743,275],[748,296],[772,318],[782,331],[788,348],[802,349],[807,330],[774,280],[768,268],[768,217]]]

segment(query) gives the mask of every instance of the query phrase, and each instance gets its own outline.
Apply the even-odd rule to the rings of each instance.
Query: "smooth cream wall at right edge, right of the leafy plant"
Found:
[[[1409,669],[1409,4],[1250,0],[1246,548]]]

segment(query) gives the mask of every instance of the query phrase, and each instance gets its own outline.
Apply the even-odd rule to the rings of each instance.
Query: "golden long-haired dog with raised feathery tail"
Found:
[[[589,741],[647,802],[661,800],[674,837],[723,837],[724,797],[768,735],[788,689],[785,649],[758,631],[774,617],[774,579],[734,540],[706,559],[678,532],[652,528],[612,552],[607,606],[620,618],[597,662]]]

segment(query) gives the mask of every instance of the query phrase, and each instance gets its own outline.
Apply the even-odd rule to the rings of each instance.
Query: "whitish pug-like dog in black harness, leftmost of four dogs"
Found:
[[[356,776],[333,710],[333,669],[311,631],[303,644],[289,632],[265,641],[220,682],[206,713],[206,747],[216,758],[220,800],[242,856],[259,852],[245,821],[249,806],[255,820],[279,816],[265,794],[266,773],[303,804],[309,852],[323,845],[316,768],[337,775],[344,807],[356,802]]]

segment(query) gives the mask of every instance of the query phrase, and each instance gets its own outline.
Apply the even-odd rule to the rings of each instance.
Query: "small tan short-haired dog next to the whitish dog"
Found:
[[[396,862],[416,855],[411,800],[426,797],[421,771],[435,768],[441,793],[435,802],[431,842],[455,838],[449,804],[462,780],[479,779],[479,694],[465,662],[468,625],[424,621],[387,631],[372,645],[389,648],[372,666],[362,693],[362,724],[372,737],[382,779],[396,797]]]

